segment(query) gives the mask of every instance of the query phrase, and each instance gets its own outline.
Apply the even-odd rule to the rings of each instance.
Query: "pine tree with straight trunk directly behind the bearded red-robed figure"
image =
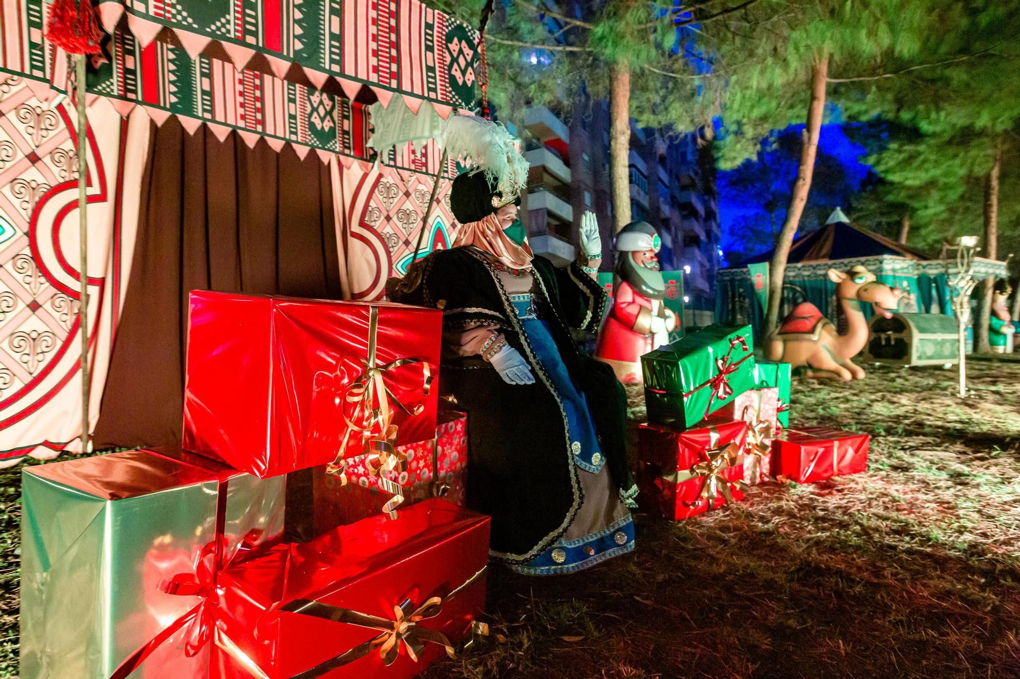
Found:
[[[512,0],[488,33],[490,62],[499,64],[490,69],[491,97],[498,107],[510,109],[524,102],[572,102],[582,88],[593,98],[609,100],[610,180],[618,230],[631,218],[630,118],[646,126],[693,129],[707,124],[710,129],[713,98],[707,93],[712,87],[704,84],[710,64],[693,49],[692,30],[728,20],[758,1],[708,0],[687,6]]]

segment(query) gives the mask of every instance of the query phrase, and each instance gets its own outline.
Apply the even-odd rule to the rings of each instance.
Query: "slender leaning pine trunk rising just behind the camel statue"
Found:
[[[794,234],[804,214],[804,206],[808,202],[808,192],[811,190],[811,176],[815,171],[815,156],[818,154],[818,135],[822,126],[822,113],[825,110],[825,79],[828,74],[828,56],[815,61],[811,70],[811,103],[808,105],[808,120],[804,128],[803,147],[801,148],[801,164],[797,168],[797,179],[789,198],[789,208],[786,219],[779,229],[775,252],[769,266],[768,309],[765,314],[766,335],[775,332],[779,325],[779,306],[782,303],[782,279],[786,274],[786,259],[789,256],[789,246],[794,243]]]

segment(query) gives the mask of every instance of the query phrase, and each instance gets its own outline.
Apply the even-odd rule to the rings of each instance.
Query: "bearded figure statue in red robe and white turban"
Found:
[[[669,344],[678,325],[676,314],[662,303],[666,286],[656,257],[661,247],[659,234],[645,221],[632,221],[616,234],[614,270],[620,281],[595,358],[611,365],[624,384],[641,383],[641,357]]]

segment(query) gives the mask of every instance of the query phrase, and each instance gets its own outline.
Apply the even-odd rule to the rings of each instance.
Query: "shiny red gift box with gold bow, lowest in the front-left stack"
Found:
[[[418,674],[481,612],[489,521],[428,500],[399,521],[364,519],[224,571],[219,645],[240,654],[217,669],[247,679],[243,658],[269,679]],[[397,618],[413,624],[396,633]]]

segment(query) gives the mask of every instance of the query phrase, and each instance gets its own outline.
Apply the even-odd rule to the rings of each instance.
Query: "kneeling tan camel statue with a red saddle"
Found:
[[[870,304],[875,313],[892,316],[903,291],[875,280],[875,274],[863,266],[847,271],[828,270],[835,294],[847,316],[846,334],[837,334],[835,326],[822,316],[810,302],[797,305],[783,319],[778,331],[765,340],[765,355],[770,361],[784,361],[795,368],[807,365],[812,377],[863,379],[864,370],[850,359],[857,356],[868,342],[868,322],[861,310]]]

